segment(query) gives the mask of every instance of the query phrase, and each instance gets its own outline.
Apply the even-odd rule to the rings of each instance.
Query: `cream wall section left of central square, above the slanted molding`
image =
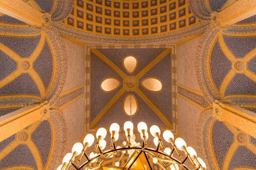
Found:
[[[64,90],[84,84],[84,47],[62,38],[67,50],[67,78]]]

